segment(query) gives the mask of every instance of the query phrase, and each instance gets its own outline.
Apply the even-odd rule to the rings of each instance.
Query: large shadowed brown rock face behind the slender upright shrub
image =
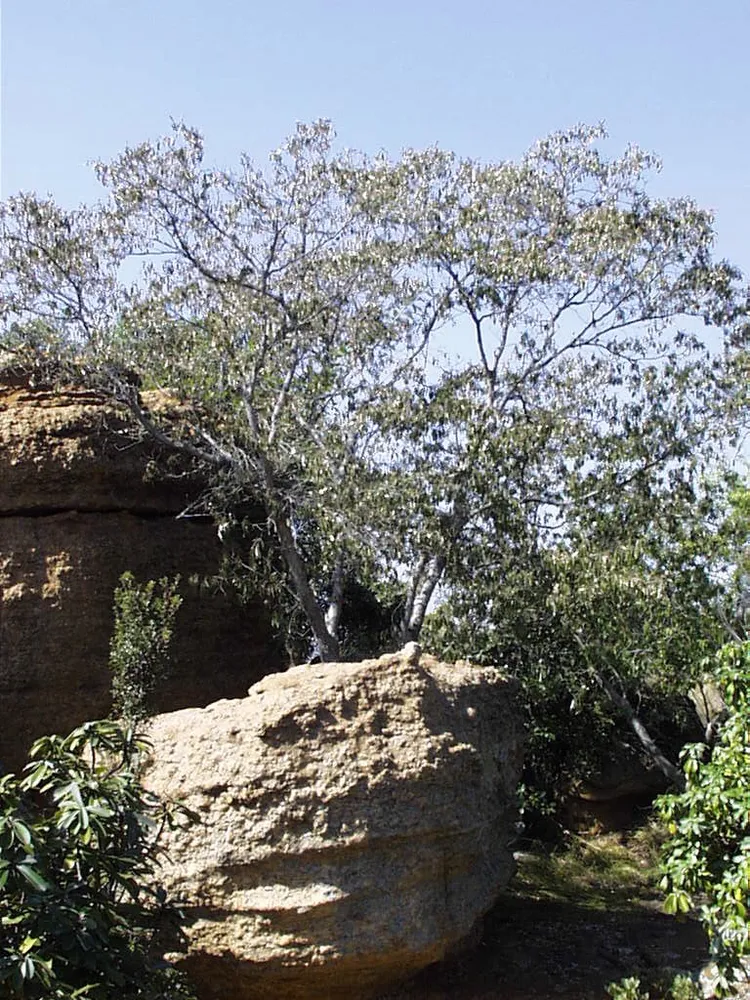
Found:
[[[219,563],[216,532],[176,520],[199,483],[157,472],[157,457],[100,397],[0,373],[1,767],[19,767],[38,736],[109,713],[125,570],[182,575],[176,671],[158,710],[236,697],[278,669],[262,610],[201,591]]]

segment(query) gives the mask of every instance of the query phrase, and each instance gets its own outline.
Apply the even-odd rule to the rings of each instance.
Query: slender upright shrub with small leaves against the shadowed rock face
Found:
[[[123,573],[115,590],[115,627],[110,644],[113,710],[128,723],[149,715],[148,699],[169,673],[169,645],[182,604],[180,578],[138,583]]]

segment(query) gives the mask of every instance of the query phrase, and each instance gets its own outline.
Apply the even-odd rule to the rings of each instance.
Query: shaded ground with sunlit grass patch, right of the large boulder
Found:
[[[610,1000],[607,986],[626,977],[656,984],[701,968],[700,925],[662,911],[661,838],[647,827],[529,845],[480,943],[382,1000]]]

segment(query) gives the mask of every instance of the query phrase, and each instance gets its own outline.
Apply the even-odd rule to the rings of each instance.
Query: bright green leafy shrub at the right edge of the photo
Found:
[[[712,747],[686,747],[685,791],[659,811],[671,839],[663,888],[669,913],[698,908],[719,969],[720,995],[750,956],[750,643],[725,646],[716,680],[728,718]]]

